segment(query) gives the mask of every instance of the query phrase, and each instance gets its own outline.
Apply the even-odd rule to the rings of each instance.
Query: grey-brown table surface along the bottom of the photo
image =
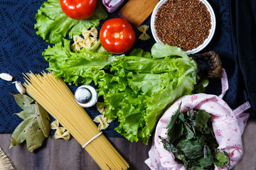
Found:
[[[0,147],[11,159],[14,168],[19,170],[80,170],[100,169],[89,154],[82,149],[74,138],[65,142],[55,140],[50,136],[43,147],[34,152],[28,152],[26,144],[18,145],[9,149],[11,134],[0,134]],[[150,145],[142,142],[129,142],[122,137],[109,138],[114,147],[129,162],[130,169],[149,169],[144,160],[148,158]],[[256,121],[247,123],[242,137],[245,149],[244,156],[233,170],[255,170],[256,169]]]

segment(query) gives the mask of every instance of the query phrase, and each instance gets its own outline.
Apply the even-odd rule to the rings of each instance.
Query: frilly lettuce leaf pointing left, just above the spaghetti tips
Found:
[[[53,70],[56,77],[63,77],[70,84],[90,84],[97,74],[105,74],[101,71],[107,67],[114,57],[108,52],[95,52],[70,50],[70,40],[58,42],[55,46],[43,52],[43,56],[49,62],[49,70]]]

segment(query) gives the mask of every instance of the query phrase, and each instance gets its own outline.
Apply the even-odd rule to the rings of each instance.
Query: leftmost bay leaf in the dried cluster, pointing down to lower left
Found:
[[[28,127],[31,124],[31,122],[33,122],[33,120],[35,120],[35,118],[28,118],[26,120],[23,120],[23,122],[21,122],[16,127],[16,129],[11,135],[11,145],[9,148],[19,145],[24,140],[26,140],[26,133],[28,131]]]

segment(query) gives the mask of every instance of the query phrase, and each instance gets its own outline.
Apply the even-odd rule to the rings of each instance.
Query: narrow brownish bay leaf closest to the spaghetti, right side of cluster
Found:
[[[36,120],[43,131],[43,135],[48,137],[50,134],[50,116],[46,110],[36,102]]]

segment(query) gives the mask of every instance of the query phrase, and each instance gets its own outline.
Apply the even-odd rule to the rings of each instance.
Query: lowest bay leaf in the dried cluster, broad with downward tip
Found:
[[[43,131],[39,127],[38,121],[36,118],[33,119],[26,132],[26,145],[28,152],[33,152],[34,149],[41,147],[45,139],[46,137],[43,135]]]

